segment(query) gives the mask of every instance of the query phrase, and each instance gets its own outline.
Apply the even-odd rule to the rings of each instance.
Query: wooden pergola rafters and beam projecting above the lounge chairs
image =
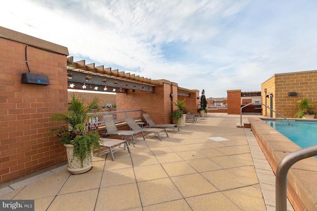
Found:
[[[154,87],[162,84],[162,80],[152,80],[135,74],[125,73],[104,65],[86,64],[85,60],[74,61],[67,57],[68,88],[93,91],[127,93],[127,89],[154,92]],[[164,80],[163,80],[164,81]],[[178,93],[189,96],[194,90],[178,87]]]

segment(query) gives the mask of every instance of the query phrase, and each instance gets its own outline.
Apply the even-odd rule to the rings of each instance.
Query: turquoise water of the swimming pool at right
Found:
[[[298,146],[305,148],[317,144],[316,121],[263,120]]]

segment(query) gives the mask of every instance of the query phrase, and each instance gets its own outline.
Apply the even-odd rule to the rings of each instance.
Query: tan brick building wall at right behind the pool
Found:
[[[273,93],[273,110],[286,118],[296,117],[296,102],[304,98],[317,108],[317,71],[275,74],[262,84],[262,91],[264,88],[267,93]],[[288,96],[288,92],[297,92],[297,95]],[[269,98],[266,101],[269,106]],[[269,111],[267,113],[269,117]],[[273,117],[279,116],[273,113]]]

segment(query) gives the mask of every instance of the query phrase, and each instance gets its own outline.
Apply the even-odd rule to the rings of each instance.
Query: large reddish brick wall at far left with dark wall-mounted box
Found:
[[[48,76],[51,84],[21,84],[28,72],[26,44],[11,37],[68,54],[65,47],[0,27],[0,184],[67,160],[65,148],[48,136],[49,118],[67,110],[66,56],[29,46],[31,73]]]

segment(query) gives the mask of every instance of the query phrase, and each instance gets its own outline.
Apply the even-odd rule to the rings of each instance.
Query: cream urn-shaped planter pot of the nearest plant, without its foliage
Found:
[[[92,161],[84,161],[83,168],[80,168],[81,163],[77,159],[77,157],[73,159],[74,145],[64,144],[64,146],[66,147],[66,152],[67,152],[67,160],[68,160],[67,169],[69,170],[70,173],[72,174],[85,173],[93,167]]]

